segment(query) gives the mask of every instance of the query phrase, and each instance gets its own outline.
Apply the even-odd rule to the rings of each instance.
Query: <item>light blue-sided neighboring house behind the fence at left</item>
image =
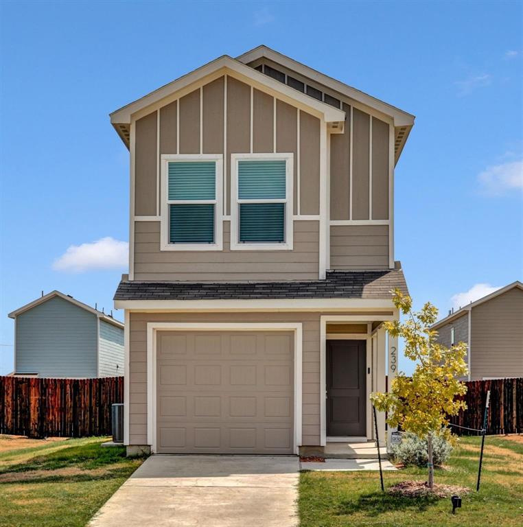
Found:
[[[14,372],[34,377],[124,375],[124,325],[53,291],[9,314]]]

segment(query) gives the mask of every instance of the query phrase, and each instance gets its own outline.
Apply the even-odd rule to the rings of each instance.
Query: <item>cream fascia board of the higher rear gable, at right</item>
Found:
[[[248,62],[253,62],[253,60],[257,60],[263,57],[268,58],[273,62],[277,62],[278,64],[281,64],[282,66],[285,66],[288,69],[292,69],[293,71],[300,73],[304,77],[308,77],[311,80],[315,80],[316,82],[323,84],[333,89],[334,91],[338,91],[339,93],[342,93],[343,95],[346,95],[347,97],[350,97],[351,99],[354,99],[355,101],[360,102],[361,104],[365,104],[370,108],[374,108],[375,110],[378,110],[384,113],[385,115],[390,115],[394,119],[394,126],[412,126],[414,124],[414,115],[405,112],[404,110],[400,110],[399,108],[396,108],[391,104],[383,102],[380,99],[376,99],[375,97],[372,97],[367,93],[353,88],[348,84],[344,84],[339,80],[333,79],[328,75],[324,75],[323,73],[320,73],[315,69],[301,64],[301,62],[297,62],[296,60],[293,60],[288,56],[278,53],[274,49],[270,49],[270,47],[266,47],[263,45],[255,47],[255,49],[251,49],[251,51],[247,51],[243,55],[237,57],[236,60],[247,64]]]

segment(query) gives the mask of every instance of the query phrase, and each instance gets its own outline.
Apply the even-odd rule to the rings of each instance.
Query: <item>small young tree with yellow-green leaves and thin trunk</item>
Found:
[[[399,372],[390,393],[373,393],[371,401],[377,410],[388,412],[391,427],[401,425],[406,432],[426,437],[428,443],[428,486],[434,487],[432,436],[443,434],[452,439],[447,428],[448,416],[465,409],[464,401],[456,401],[467,386],[456,377],[467,374],[465,354],[467,346],[460,342],[450,349],[435,342],[437,331],[430,326],[437,320],[438,310],[426,303],[419,312],[412,312],[412,299],[399,290],[393,292],[394,305],[408,318],[385,323],[393,336],[404,339],[405,356],[417,362],[410,377]]]

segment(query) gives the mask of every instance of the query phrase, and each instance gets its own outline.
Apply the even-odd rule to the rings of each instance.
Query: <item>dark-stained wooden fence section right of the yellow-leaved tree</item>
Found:
[[[483,415],[487,392],[490,390],[490,407],[487,434],[515,434],[523,432],[523,378],[469,381],[467,393],[460,397],[467,403],[467,410],[450,419],[455,425],[483,428]],[[476,434],[452,427],[455,434]]]

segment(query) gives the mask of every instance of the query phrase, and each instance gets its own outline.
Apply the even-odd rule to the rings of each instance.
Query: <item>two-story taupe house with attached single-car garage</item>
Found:
[[[414,117],[262,46],[111,123],[130,151],[129,274],[115,294],[129,451],[373,438],[382,322],[398,318],[391,290],[407,290],[393,183]]]

